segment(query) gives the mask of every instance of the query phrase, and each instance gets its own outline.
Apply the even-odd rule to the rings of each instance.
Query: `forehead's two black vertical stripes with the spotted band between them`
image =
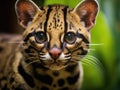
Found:
[[[62,5],[48,6],[44,23],[45,32],[50,32],[51,30],[67,30],[67,8]]]

